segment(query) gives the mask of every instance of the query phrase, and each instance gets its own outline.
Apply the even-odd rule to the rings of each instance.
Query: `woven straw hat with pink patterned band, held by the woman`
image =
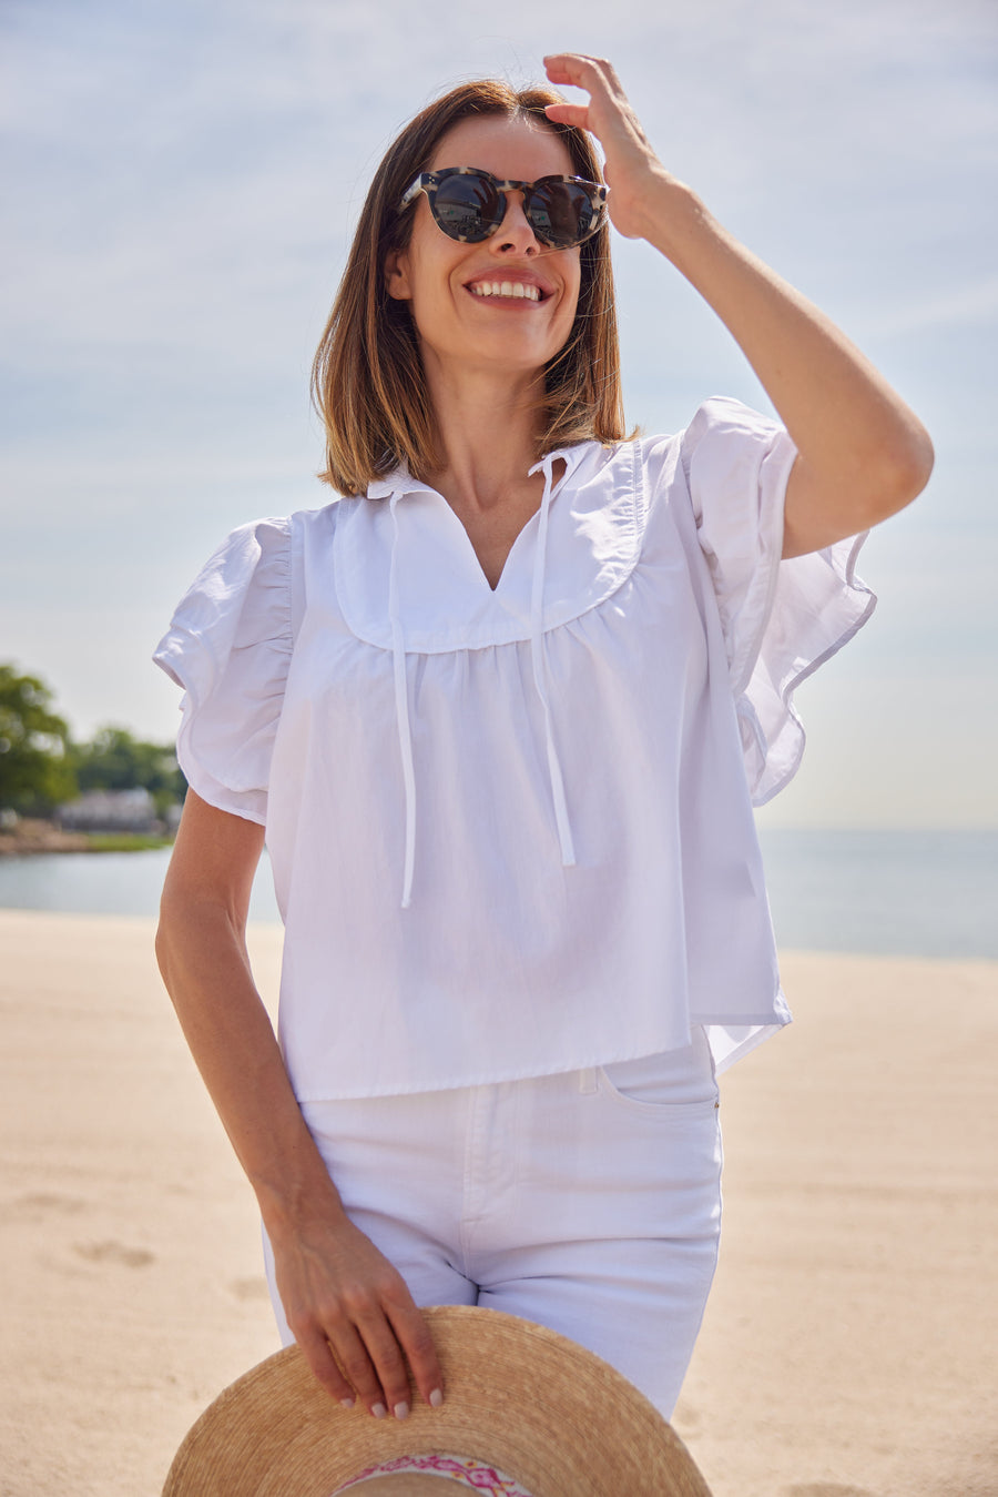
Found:
[[[373,1419],[359,1403],[343,1409],[290,1346],[202,1413],[163,1497],[334,1497],[344,1488],[349,1497],[459,1497],[459,1476],[416,1469],[449,1469],[429,1455],[494,1467],[507,1485],[471,1479],[482,1494],[711,1497],[670,1425],[599,1356],[498,1310],[423,1313],[444,1376],[441,1409],[417,1395],[402,1421]],[[461,1460],[450,1464],[456,1472]]]

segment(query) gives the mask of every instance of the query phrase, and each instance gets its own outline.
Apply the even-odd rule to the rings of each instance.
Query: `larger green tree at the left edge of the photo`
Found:
[[[0,807],[45,816],[75,793],[69,728],[49,687],[0,665]]]

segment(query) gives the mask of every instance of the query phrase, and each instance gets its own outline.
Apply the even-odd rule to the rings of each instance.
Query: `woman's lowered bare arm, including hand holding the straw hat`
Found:
[[[189,790],[163,888],[160,972],[256,1192],[284,1314],[311,1370],[334,1397],[353,1401],[356,1391],[371,1413],[404,1418],[402,1353],[428,1403],[440,1401],[440,1365],[404,1280],[343,1210],[256,991],[245,921],[262,850],[262,826]]]

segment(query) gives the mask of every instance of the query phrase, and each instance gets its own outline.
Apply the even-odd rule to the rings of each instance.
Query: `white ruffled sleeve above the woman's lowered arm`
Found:
[[[153,659],[184,690],[177,757],[189,784],[260,825],[290,656],[290,521],[259,519],[202,567]]]

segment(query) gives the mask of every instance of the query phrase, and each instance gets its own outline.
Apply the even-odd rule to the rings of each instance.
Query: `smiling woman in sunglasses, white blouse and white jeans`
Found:
[[[932,461],[612,67],[546,69],[588,103],[471,84],[388,153],[316,365],[347,497],[229,537],[157,657],[192,784],[163,976],[284,1334],[374,1416],[408,1412],[405,1361],[443,1401],[431,1302],[548,1323],[670,1413],[717,1254],[715,1063],[789,1019],[750,796],[872,608],[848,537]],[[783,425],[708,401],[627,440],[607,213]],[[265,825],[280,1049],[244,946]]]

